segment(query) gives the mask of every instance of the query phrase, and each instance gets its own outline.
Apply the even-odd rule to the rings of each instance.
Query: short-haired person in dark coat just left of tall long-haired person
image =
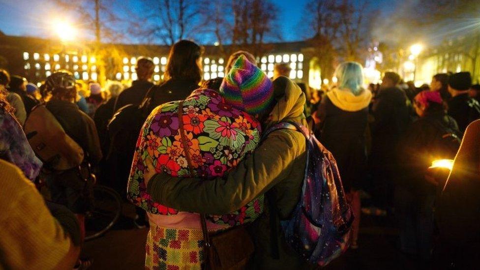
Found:
[[[138,106],[142,103],[145,95],[153,86],[153,83],[151,83],[153,68],[153,60],[150,58],[138,58],[135,68],[138,80],[133,81],[131,87],[120,93],[115,104],[115,111],[128,104]]]

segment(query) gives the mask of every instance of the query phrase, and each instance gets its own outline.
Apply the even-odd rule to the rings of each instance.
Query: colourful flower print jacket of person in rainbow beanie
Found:
[[[214,90],[195,90],[183,102],[158,106],[146,120],[137,141],[128,180],[128,199],[153,214],[177,214],[178,210],[150,199],[143,180],[145,159],[153,160],[157,172],[178,177],[193,174],[210,180],[223,176],[256,148],[260,129],[257,120],[226,104]],[[262,211],[263,195],[233,213],[210,215],[209,220],[234,226],[253,221]]]

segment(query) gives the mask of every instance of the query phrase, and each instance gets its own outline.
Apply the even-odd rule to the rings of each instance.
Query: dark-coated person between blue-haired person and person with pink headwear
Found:
[[[393,184],[397,175],[396,148],[409,122],[405,92],[397,87],[400,76],[386,72],[372,106],[372,149],[370,166],[373,197],[378,207],[391,207]]]

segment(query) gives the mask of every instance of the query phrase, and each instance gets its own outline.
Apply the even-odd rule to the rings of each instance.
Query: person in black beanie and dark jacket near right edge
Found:
[[[449,92],[452,97],[448,102],[448,114],[457,121],[462,134],[468,124],[480,118],[479,102],[469,95],[471,86],[470,72],[458,72],[450,75]]]

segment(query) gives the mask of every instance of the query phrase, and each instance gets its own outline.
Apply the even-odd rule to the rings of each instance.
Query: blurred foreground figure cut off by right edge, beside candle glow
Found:
[[[480,258],[480,120],[471,123],[435,210],[435,269],[478,269]]]

